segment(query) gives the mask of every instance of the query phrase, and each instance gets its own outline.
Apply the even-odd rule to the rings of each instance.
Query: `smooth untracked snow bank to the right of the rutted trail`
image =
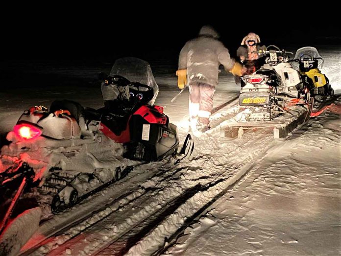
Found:
[[[339,255],[341,102],[268,151],[166,255]]]

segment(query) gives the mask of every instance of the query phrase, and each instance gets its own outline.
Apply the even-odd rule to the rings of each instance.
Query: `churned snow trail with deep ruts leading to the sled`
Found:
[[[49,255],[62,253],[71,253],[73,255],[81,253],[97,254],[103,248],[103,252],[111,251],[110,248],[118,250],[117,244],[124,244],[122,240],[125,240],[126,244],[128,244],[127,241],[132,240],[137,230],[144,229],[144,232],[148,233],[152,232],[155,227],[159,227],[160,223],[162,227],[163,222],[169,222],[169,218],[173,218],[174,212],[178,211],[178,209],[186,209],[184,216],[181,215],[180,210],[178,215],[180,219],[195,214],[197,209],[202,208],[222,189],[235,182],[236,177],[242,176],[247,167],[253,163],[255,157],[260,157],[260,154],[264,153],[267,146],[257,151],[252,146],[253,142],[262,139],[264,143],[270,145],[272,141],[272,133],[269,130],[260,130],[246,135],[246,142],[234,140],[234,143],[232,143],[230,141],[228,147],[226,147],[228,153],[225,152],[224,155],[220,155],[218,158],[212,158],[212,152],[205,155],[200,154],[190,162],[190,165],[184,162],[180,164],[181,167],[161,173],[161,175],[146,181],[141,184],[141,187],[146,192],[141,197],[136,198],[136,201],[131,201],[129,205],[121,208],[121,211],[107,210],[107,214],[102,213],[107,215],[105,218],[92,223],[87,229],[82,228],[85,227],[85,224],[82,223],[76,225],[70,231],[59,234],[51,242],[40,248],[37,255],[47,253]],[[207,135],[206,139],[209,137]],[[236,157],[239,151],[244,151],[243,149],[247,149],[247,153]],[[179,200],[179,198],[182,199]],[[188,215],[189,212],[191,215]],[[155,222],[155,220],[157,221]],[[153,223],[153,225],[150,226],[150,223]],[[182,223],[182,221],[177,224],[173,223],[169,232],[176,231],[181,227]],[[132,230],[134,232],[131,232]],[[128,232],[129,234],[127,234]],[[80,236],[75,238],[78,234]],[[73,239],[75,240],[73,241]],[[136,236],[135,239],[135,241],[139,240]],[[90,245],[89,241],[91,241]],[[53,248],[56,248],[56,250],[53,251]],[[52,251],[50,251],[51,249]],[[124,246],[124,252],[128,249],[129,247]],[[142,252],[139,251],[139,253]],[[145,254],[148,254],[148,252],[145,252]]]

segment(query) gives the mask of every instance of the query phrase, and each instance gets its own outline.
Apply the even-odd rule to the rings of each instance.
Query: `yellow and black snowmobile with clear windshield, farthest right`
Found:
[[[312,97],[317,95],[334,95],[334,90],[330,86],[328,78],[320,71],[323,67],[324,60],[318,54],[315,47],[299,48],[291,62],[302,77],[301,96],[309,98],[310,95]]]

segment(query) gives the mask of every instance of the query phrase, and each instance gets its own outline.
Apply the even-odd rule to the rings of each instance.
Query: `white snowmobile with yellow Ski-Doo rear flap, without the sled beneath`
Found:
[[[291,52],[268,46],[258,54],[266,56],[265,65],[241,77],[245,85],[240,91],[239,105],[250,110],[246,121],[270,121],[285,113],[288,96],[297,95],[301,84],[299,73],[288,63]]]

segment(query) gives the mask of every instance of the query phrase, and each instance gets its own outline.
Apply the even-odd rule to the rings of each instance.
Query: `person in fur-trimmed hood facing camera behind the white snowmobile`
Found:
[[[248,33],[242,40],[241,46],[237,49],[237,56],[246,67],[246,71],[243,74],[252,74],[256,70],[259,70],[264,64],[263,55],[259,55],[258,51],[263,50],[266,47],[260,46],[261,40],[255,33]],[[257,52],[255,52],[257,51]],[[240,78],[236,78],[236,83],[240,81]],[[244,84],[242,84],[242,87]]]

